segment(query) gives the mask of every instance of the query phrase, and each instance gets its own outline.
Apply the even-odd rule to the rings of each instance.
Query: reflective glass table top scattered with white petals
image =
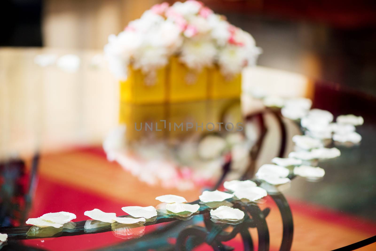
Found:
[[[80,57],[81,64],[73,72],[54,65],[41,67],[34,59],[42,53],[74,53]],[[250,69],[244,73],[246,93],[241,107],[234,108],[235,113],[231,109],[226,112],[230,111],[228,114],[235,120],[239,119],[238,113],[243,114],[244,121],[249,120],[248,134],[256,135],[256,140],[230,151],[234,155],[246,149],[245,152],[254,157],[252,165],[225,172],[226,161],[198,164],[179,157],[167,168],[166,162],[150,165],[145,160],[159,156],[161,149],[166,148],[172,149],[167,151],[168,156],[171,152],[175,157],[180,156],[176,153],[186,139],[194,139],[191,147],[198,149],[203,137],[190,133],[168,134],[162,136],[168,140],[152,141],[146,136],[148,140],[144,144],[127,145],[127,150],[132,152],[127,161],[123,155],[111,159],[103,150],[103,141],[118,128],[119,110],[124,106],[116,101],[117,84],[104,63],[93,63],[98,53],[0,50],[0,233],[9,236],[3,250],[221,250],[225,247],[244,250],[252,245],[255,250],[280,250],[281,244],[281,250],[289,250],[290,245],[291,250],[332,250],[376,234],[374,97],[298,74],[262,67]],[[222,183],[218,183],[221,178],[246,177],[260,184],[255,178],[258,168],[280,155],[281,144],[284,146],[282,155],[287,157],[293,151],[292,137],[302,133],[299,124],[285,118],[279,120],[280,116],[275,116],[276,109],[265,112],[265,107],[250,97],[251,91],[260,88],[268,95],[308,97],[313,108],[329,110],[335,117],[341,114],[362,116],[365,122],[356,128],[362,136],[361,143],[351,147],[331,143],[341,151],[341,156],[318,163],[325,170],[320,180],[291,177],[290,186],[281,189],[281,194],[270,193],[258,203],[229,199],[234,207],[248,212],[244,220],[236,224],[212,221],[208,215],[210,208],[202,203],[199,212],[190,217],[167,217],[160,213],[143,225],[103,224],[84,215],[86,210],[94,208],[124,215],[121,207],[157,206],[159,201],[155,197],[164,194],[180,195],[189,202],[199,203],[197,200],[203,190],[217,186],[224,191]],[[178,115],[180,118],[188,115],[190,119],[206,118],[220,107],[210,101],[203,103],[179,104],[188,108],[179,107],[178,111],[187,112],[178,112]],[[156,107],[143,109],[158,113]],[[170,111],[174,107],[161,109]],[[261,131],[254,128],[260,114],[267,129],[262,142],[257,140]],[[281,143],[280,121],[286,132],[285,144]],[[127,129],[130,132],[129,127]],[[124,136],[117,135],[118,138]],[[124,137],[130,142],[129,134]],[[150,153],[144,151],[146,148],[158,151]],[[182,148],[185,155],[187,151]],[[130,168],[132,159],[143,165]],[[171,172],[174,175],[165,178]],[[25,224],[28,218],[59,211],[76,214],[73,220],[76,226],[54,229]],[[211,243],[211,247],[202,244],[204,240]],[[360,250],[375,249],[375,244],[371,244]]]

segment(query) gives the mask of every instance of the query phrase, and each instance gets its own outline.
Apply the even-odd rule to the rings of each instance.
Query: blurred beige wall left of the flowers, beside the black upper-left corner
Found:
[[[46,0],[43,42],[48,47],[103,48],[117,34],[160,0]]]

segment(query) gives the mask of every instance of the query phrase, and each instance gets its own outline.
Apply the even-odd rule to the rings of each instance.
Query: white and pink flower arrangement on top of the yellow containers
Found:
[[[217,64],[222,74],[233,76],[254,65],[261,52],[249,33],[195,0],[154,5],[108,41],[105,54],[120,79],[126,79],[130,64],[155,74],[173,55],[188,68]]]

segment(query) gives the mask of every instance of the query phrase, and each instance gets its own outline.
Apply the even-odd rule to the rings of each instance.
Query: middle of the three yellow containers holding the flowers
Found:
[[[205,100],[208,98],[208,69],[200,72],[191,70],[171,57],[168,76],[168,101]]]

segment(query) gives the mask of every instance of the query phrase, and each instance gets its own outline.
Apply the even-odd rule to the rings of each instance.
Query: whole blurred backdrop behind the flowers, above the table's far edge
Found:
[[[101,49],[158,0],[2,0],[0,46]],[[168,1],[173,3],[174,1]],[[204,0],[250,32],[258,64],[376,94],[373,0]]]

